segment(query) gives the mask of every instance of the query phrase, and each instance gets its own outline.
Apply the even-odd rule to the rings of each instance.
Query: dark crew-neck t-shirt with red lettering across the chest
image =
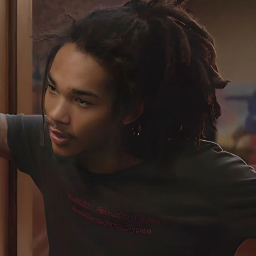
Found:
[[[171,167],[144,161],[94,174],[53,153],[41,115],[7,115],[19,170],[42,192],[50,256],[233,256],[256,238],[256,173],[201,141]]]

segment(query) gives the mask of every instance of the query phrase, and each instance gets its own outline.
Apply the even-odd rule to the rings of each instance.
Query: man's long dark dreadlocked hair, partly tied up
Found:
[[[187,146],[199,148],[208,119],[216,130],[221,115],[215,88],[229,80],[218,74],[214,40],[179,1],[131,0],[93,11],[54,35],[42,90],[57,51],[73,42],[111,74],[115,109],[142,99],[141,117],[126,127],[130,151],[168,158]],[[44,112],[43,112],[44,113]]]

